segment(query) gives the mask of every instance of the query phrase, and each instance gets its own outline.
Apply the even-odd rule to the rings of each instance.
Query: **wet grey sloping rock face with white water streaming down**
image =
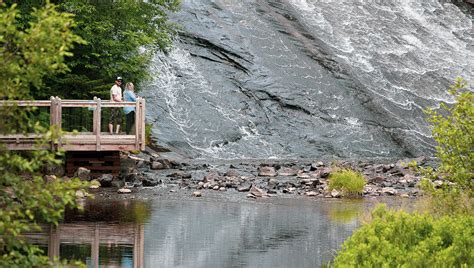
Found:
[[[472,12],[438,0],[194,0],[173,20],[142,95],[190,157],[430,154],[422,109],[474,77]]]

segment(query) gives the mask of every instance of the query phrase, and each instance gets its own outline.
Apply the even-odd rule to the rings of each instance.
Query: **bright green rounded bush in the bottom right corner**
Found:
[[[474,217],[372,212],[334,260],[335,267],[473,267]]]

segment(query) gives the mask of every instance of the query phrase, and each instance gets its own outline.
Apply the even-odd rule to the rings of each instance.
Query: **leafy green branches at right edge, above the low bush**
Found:
[[[428,109],[428,122],[438,143],[436,156],[441,164],[430,177],[442,177],[456,183],[472,196],[474,183],[474,93],[464,90],[467,83],[458,78],[449,93],[456,103],[441,104],[441,111]],[[427,172],[429,173],[429,171]]]

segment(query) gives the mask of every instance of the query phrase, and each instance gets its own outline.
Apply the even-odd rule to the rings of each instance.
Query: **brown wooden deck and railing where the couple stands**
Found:
[[[49,107],[50,126],[62,130],[63,108],[88,108],[93,112],[92,132],[65,132],[59,139],[51,141],[51,149],[59,148],[66,151],[132,151],[145,150],[145,99],[138,97],[136,102],[102,101],[100,98],[93,100],[62,100],[51,97],[48,100],[31,101],[0,101],[0,106],[17,107]],[[134,134],[109,134],[101,132],[102,109],[135,107]],[[108,123],[107,123],[108,124]],[[122,125],[123,127],[123,125]],[[0,135],[0,143],[6,145],[8,150],[34,150],[41,149],[37,146],[40,138],[38,134]]]

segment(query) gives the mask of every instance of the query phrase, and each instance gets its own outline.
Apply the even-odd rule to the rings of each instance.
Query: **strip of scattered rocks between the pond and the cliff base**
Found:
[[[143,189],[153,189],[192,197],[219,192],[236,193],[252,199],[275,196],[340,198],[342,192],[329,190],[328,178],[336,169],[350,168],[361,172],[367,180],[362,197],[413,198],[422,192],[416,187],[420,176],[406,167],[405,163],[411,160],[393,163],[371,160],[222,160],[203,163],[158,154],[123,154],[120,177],[104,174],[95,179],[92,188],[105,190],[111,187],[118,189],[116,192],[119,194],[138,195]],[[418,158],[416,161],[423,164],[426,159]],[[76,175],[83,180],[90,179],[88,171],[83,168],[79,168]]]

